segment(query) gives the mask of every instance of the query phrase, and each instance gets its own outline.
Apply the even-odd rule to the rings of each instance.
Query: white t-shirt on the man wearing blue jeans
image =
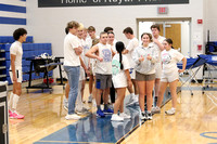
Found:
[[[64,39],[64,65],[80,66],[79,55],[75,53],[75,48],[78,48],[78,38],[68,32]]]

